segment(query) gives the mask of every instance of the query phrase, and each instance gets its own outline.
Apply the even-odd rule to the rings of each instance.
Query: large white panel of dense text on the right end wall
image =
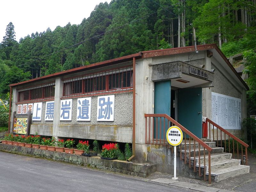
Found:
[[[212,121],[224,129],[241,129],[241,99],[212,92]]]

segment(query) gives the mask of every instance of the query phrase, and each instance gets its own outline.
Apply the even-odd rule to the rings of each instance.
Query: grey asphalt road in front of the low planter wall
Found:
[[[0,192],[16,191],[192,191],[0,151]]]

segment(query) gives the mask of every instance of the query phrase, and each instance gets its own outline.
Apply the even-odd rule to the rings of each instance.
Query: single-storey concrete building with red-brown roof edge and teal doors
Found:
[[[10,87],[11,131],[18,130],[14,115],[33,108],[30,134],[133,143],[134,161],[159,164],[163,172],[172,163],[157,154],[167,152],[152,152],[148,140],[165,142],[169,123],[147,128],[145,114],[166,114],[197,138],[211,137],[203,116],[245,137],[249,88],[215,44],[139,52]]]

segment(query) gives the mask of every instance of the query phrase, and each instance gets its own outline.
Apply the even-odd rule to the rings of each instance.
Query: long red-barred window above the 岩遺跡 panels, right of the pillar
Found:
[[[132,66],[63,80],[63,97],[131,90]]]

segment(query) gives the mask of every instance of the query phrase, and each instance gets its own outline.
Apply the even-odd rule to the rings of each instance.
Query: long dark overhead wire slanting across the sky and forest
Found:
[[[183,0],[183,1],[186,1],[186,0]],[[88,41],[88,40],[91,40],[91,39],[95,38],[95,37],[102,36],[102,35],[104,35],[104,34],[106,34],[106,33],[109,33],[109,32],[111,32],[111,31],[114,31],[114,30],[116,30],[116,29],[118,29],[118,28],[122,28],[122,27],[124,27],[124,26],[126,26],[126,25],[129,25],[129,24],[131,24],[131,23],[134,23],[134,22],[136,22],[136,21],[139,21],[139,20],[141,20],[141,19],[144,19],[144,18],[146,18],[146,17],[148,17],[148,16],[150,16],[150,15],[153,15],[153,14],[155,14],[155,13],[164,11],[164,10],[170,8],[170,7],[173,7],[174,5],[177,5],[177,4],[182,3],[183,1],[180,1],[180,2],[178,2],[178,3],[176,3],[176,4],[173,4],[173,5],[170,5],[170,6],[166,7],[166,8],[164,8],[164,9],[161,9],[161,10],[156,11],[156,12],[154,12],[154,13],[150,13],[150,14],[148,14],[148,15],[146,15],[146,16],[144,16],[144,17],[141,17],[141,18],[139,18],[139,19],[137,19],[137,20],[132,20],[132,21],[129,22],[129,23],[126,23],[126,24],[121,25],[121,26],[119,26],[119,27],[116,27],[116,28],[114,28],[114,29],[110,29],[110,30],[108,30],[108,31],[106,31],[106,32],[104,32],[104,33],[101,33],[101,34],[99,34],[99,35],[96,35],[96,36],[93,36],[93,37],[91,37],[91,38],[88,38],[88,39],[86,39],[86,40],[84,40],[84,41],[81,41],[81,42],[79,42],[79,43],[73,44],[73,45],[71,45],[71,46],[69,46],[69,47],[66,47],[66,48],[63,48],[63,49],[61,49],[61,50],[59,50],[59,51],[52,52],[52,53],[50,53],[50,54],[48,54],[48,55],[45,55],[45,56],[43,56],[43,57],[40,57],[40,58],[38,58],[38,59],[29,61],[29,62],[27,62],[27,63],[21,64],[21,65],[15,66],[15,67],[20,67],[20,66],[22,66],[22,65],[26,65],[26,64],[31,63],[31,62],[34,62],[34,61],[36,61],[36,60],[42,59],[42,58],[44,58],[44,57],[48,57],[48,56],[50,56],[50,55],[52,55],[52,54],[55,54],[55,53],[64,51],[64,50],[66,50],[66,49],[69,49],[69,48],[71,48],[71,47],[74,47],[74,46],[76,46],[76,45],[82,44],[82,43],[84,43],[84,42],[86,42],[86,41]]]

